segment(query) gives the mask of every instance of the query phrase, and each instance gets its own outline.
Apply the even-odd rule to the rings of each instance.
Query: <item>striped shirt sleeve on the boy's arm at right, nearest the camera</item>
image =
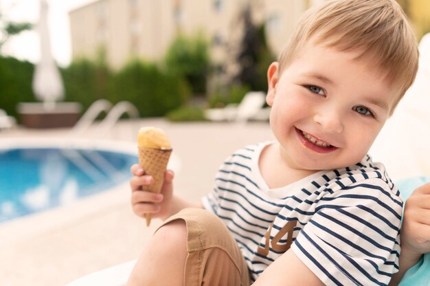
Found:
[[[398,271],[403,202],[382,179],[321,196],[295,254],[326,285],[387,285]]]

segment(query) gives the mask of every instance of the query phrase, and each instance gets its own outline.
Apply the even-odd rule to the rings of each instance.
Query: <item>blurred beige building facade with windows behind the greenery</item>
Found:
[[[319,0],[321,1],[321,0]],[[239,39],[239,14],[251,5],[253,21],[266,21],[267,42],[278,54],[312,1],[306,0],[99,0],[69,13],[73,58],[98,58],[118,69],[130,58],[158,61],[179,33],[203,32],[214,63],[227,61]]]

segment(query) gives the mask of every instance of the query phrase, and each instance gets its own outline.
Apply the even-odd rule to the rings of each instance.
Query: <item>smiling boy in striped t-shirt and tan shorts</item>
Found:
[[[398,271],[403,202],[367,151],[414,81],[418,49],[394,0],[309,10],[267,72],[275,142],[220,167],[202,206],[140,191],[133,210],[169,219],[129,285],[386,285]]]

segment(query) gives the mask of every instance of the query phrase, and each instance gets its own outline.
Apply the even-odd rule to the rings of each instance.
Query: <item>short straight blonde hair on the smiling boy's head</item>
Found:
[[[398,100],[414,82],[416,36],[394,0],[335,0],[311,8],[280,54],[281,72],[309,42],[345,52],[363,51],[359,58],[370,58],[386,73],[387,83],[399,89]]]

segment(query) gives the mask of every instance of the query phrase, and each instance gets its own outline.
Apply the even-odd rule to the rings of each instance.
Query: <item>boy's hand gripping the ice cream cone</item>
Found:
[[[145,217],[147,213],[161,219],[169,217],[172,208],[172,180],[174,177],[172,170],[166,170],[159,194],[142,190],[142,186],[152,184],[154,179],[152,176],[146,175],[145,170],[139,164],[134,164],[130,170],[133,175],[130,179],[133,212],[139,217]]]

